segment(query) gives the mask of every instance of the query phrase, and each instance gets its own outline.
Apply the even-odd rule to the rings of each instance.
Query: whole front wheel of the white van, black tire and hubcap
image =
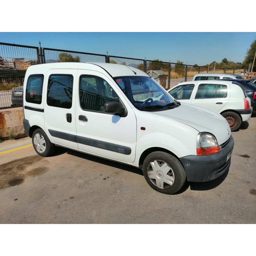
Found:
[[[168,195],[178,192],[187,177],[179,160],[162,151],[149,154],[143,162],[142,171],[151,188]]]

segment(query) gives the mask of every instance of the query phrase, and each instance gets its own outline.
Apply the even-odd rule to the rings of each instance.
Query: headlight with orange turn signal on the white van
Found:
[[[221,146],[218,145],[216,138],[206,132],[199,133],[196,141],[196,154],[199,156],[211,155],[219,152]]]

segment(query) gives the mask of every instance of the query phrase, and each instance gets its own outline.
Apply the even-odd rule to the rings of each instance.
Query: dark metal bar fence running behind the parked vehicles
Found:
[[[87,52],[66,51],[19,44],[0,43],[0,109],[17,107],[12,103],[12,88],[23,85],[29,66],[55,62],[104,62],[139,68],[165,89],[189,81],[196,73],[230,73],[245,71],[233,68],[207,68],[156,60],[142,60]]]

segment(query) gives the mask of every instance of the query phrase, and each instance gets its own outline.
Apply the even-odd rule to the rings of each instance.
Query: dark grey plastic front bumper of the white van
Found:
[[[234,139],[230,139],[221,145],[222,150],[208,156],[185,156],[180,161],[187,174],[188,181],[205,182],[215,180],[225,173],[231,163],[231,154],[234,148]]]

